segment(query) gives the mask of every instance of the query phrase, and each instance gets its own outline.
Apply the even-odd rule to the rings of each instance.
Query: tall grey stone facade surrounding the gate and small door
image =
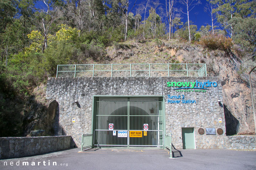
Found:
[[[77,146],[81,135],[91,134],[93,96],[164,96],[166,133],[172,134],[172,143],[182,148],[182,128],[194,128],[196,148],[223,148],[225,117],[222,86],[209,87],[206,91],[176,91],[167,82],[216,81],[215,77],[111,77],[111,78],[49,78],[47,100],[59,103],[58,135],[71,135]],[[196,89],[195,89],[196,90]],[[181,96],[196,103],[168,103],[169,96]],[[182,96],[183,95],[183,96]],[[77,103],[75,101],[78,101]],[[180,99],[179,99],[180,100]],[[220,102],[218,102],[220,100]],[[75,118],[75,123],[72,123]],[[222,122],[219,122],[219,118]],[[223,135],[199,135],[198,129],[223,129]],[[222,144],[223,143],[223,144]]]

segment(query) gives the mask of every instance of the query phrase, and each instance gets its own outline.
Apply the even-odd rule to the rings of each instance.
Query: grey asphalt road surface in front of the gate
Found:
[[[170,159],[169,152],[165,150],[90,149],[79,151],[79,148],[75,148],[32,157],[4,159],[0,160],[0,170],[256,170],[256,151],[184,149],[178,152],[173,150],[175,151],[174,159]],[[25,165],[26,163],[29,165]]]

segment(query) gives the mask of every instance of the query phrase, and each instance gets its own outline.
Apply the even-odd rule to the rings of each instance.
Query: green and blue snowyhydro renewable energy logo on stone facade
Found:
[[[179,90],[179,89],[205,89],[209,90],[206,87],[217,87],[217,82],[212,82],[212,81],[206,81],[206,82],[199,82],[199,81],[194,81],[194,82],[167,82],[167,87],[178,87],[174,90]]]

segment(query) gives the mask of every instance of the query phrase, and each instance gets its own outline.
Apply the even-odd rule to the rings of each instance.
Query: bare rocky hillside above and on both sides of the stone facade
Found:
[[[87,63],[206,63],[208,76],[216,76],[223,86],[227,134],[255,132],[248,77],[255,62],[250,56],[240,58],[236,50],[209,50],[178,40],[126,41],[107,47],[105,56],[98,61],[88,59]],[[255,73],[252,85],[256,85]],[[254,96],[255,92],[256,88]],[[45,85],[34,89],[24,111],[25,135],[54,135],[49,128],[54,124],[53,105],[45,100]]]

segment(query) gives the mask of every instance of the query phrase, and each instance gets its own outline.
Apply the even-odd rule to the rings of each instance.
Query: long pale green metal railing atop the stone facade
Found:
[[[56,77],[206,77],[206,64],[58,65]]]

